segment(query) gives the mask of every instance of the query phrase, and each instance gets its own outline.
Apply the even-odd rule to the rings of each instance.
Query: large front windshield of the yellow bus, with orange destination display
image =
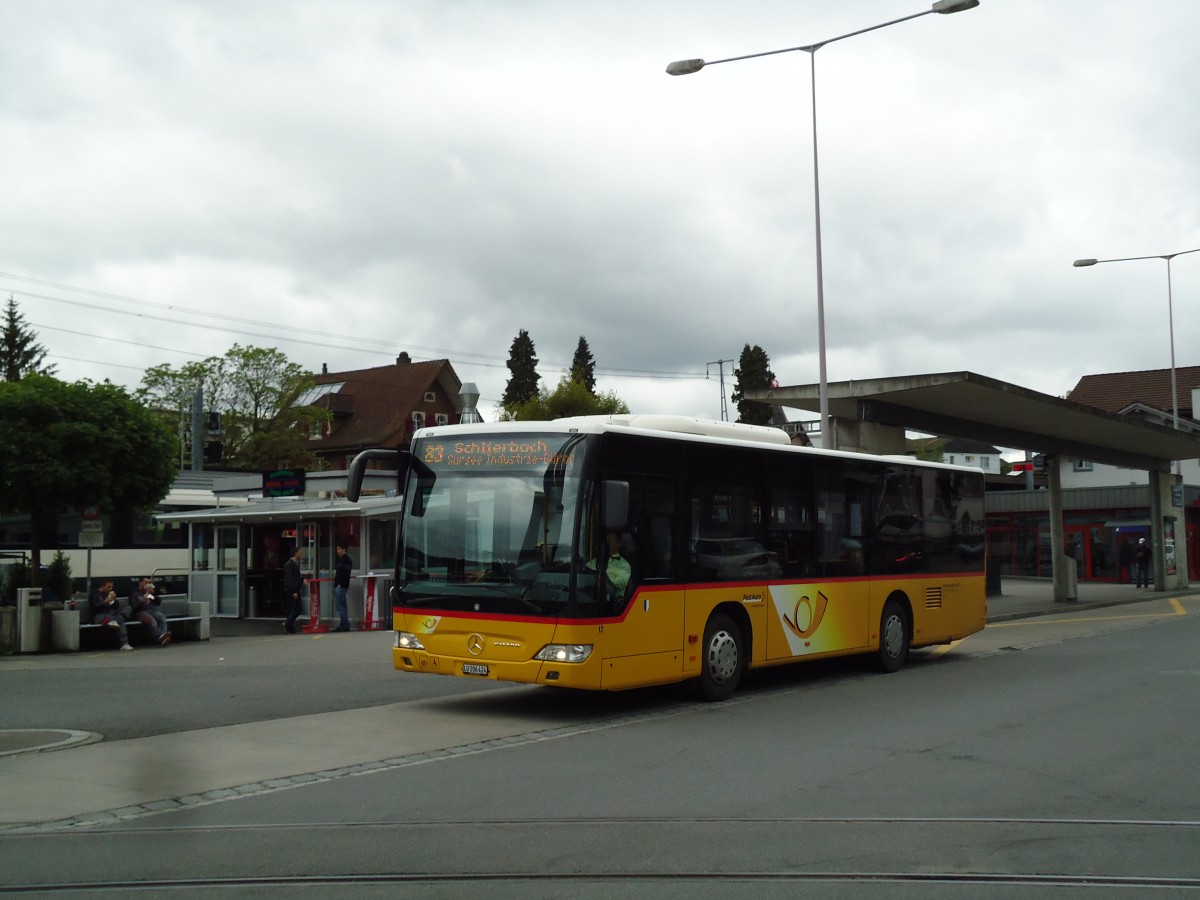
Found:
[[[581,474],[586,443],[582,434],[539,433],[414,442],[398,602],[568,614],[572,548],[590,493]]]

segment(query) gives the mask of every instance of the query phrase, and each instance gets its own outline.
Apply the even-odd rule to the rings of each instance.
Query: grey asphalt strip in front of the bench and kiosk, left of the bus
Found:
[[[0,662],[0,727],[125,740],[496,688],[402,678],[390,631],[222,637]]]

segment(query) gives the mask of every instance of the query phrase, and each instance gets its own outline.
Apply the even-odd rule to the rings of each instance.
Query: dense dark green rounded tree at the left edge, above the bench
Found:
[[[174,456],[161,416],[124,388],[41,374],[0,382],[0,511],[29,515],[35,578],[46,512],[152,506],[170,488]]]

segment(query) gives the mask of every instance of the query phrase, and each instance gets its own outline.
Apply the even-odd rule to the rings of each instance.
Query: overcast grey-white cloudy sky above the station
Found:
[[[0,294],[67,379],[407,350],[492,419],[526,329],[551,386],[583,335],[634,412],[718,418],[746,343],[817,380],[810,58],[666,64],[928,8],[7,2]],[[820,50],[829,379],[1165,368],[1165,263],[1072,260],[1200,247],[1198,35],[1195,0],[982,0]],[[1194,365],[1200,253],[1172,284]]]

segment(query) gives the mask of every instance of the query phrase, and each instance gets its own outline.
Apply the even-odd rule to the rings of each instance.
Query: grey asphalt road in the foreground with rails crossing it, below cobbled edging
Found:
[[[1195,895],[1196,612],[1004,623],[894,676],[773,670],[719,704],[410,677],[454,691],[402,707],[414,725],[522,728],[100,828],[0,832],[0,878],[67,896]],[[308,640],[331,658],[319,691],[358,648]],[[149,668],[204,671],[174,649]],[[247,644],[257,662],[239,665],[271,653]],[[110,659],[91,670],[120,674]]]

